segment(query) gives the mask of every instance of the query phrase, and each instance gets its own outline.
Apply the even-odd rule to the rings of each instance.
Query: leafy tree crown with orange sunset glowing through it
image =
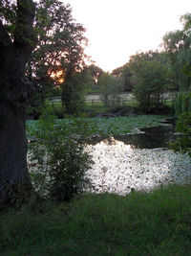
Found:
[[[65,90],[85,65],[87,38],[84,27],[74,21],[70,5],[59,0],[40,0],[35,31],[38,42],[28,62],[28,78],[35,81],[44,93],[53,94],[56,88]],[[70,94],[66,97],[71,97],[71,101],[75,98]]]

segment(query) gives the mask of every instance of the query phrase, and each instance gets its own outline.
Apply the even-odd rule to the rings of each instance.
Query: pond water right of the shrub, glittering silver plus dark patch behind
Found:
[[[138,134],[93,139],[88,151],[94,165],[87,173],[92,191],[124,196],[133,190],[190,183],[190,156],[168,149],[173,131],[167,124],[141,128]]]

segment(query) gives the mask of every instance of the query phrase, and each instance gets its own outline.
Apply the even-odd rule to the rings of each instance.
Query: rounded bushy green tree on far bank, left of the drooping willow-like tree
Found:
[[[145,110],[158,107],[170,78],[167,66],[156,59],[155,53],[148,52],[132,56],[129,67],[139,106]]]

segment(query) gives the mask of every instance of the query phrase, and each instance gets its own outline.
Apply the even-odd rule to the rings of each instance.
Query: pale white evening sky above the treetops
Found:
[[[181,29],[191,0],[64,0],[86,28],[85,52],[111,72],[139,51],[159,49],[167,32]]]

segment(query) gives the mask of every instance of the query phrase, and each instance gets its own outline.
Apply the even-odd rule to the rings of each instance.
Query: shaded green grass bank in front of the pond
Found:
[[[0,255],[191,255],[191,188],[88,195],[0,216]]]

